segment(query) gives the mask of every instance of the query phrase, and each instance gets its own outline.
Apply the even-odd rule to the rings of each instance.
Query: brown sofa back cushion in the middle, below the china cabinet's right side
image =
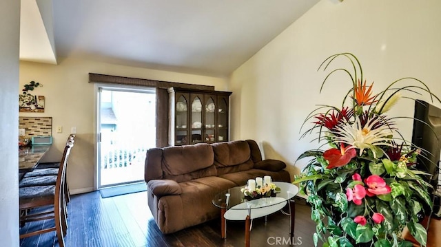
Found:
[[[214,151],[214,165],[218,175],[247,171],[253,168],[251,149],[245,140],[232,142],[217,142],[212,144]]]

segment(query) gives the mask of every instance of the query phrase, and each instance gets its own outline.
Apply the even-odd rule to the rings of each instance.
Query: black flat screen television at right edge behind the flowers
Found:
[[[441,152],[441,109],[423,100],[415,100],[413,118],[412,144],[422,150],[416,167],[432,175],[427,182],[436,189]]]

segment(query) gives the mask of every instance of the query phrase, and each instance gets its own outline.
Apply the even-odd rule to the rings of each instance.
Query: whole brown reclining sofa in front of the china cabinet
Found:
[[[148,205],[162,233],[220,216],[212,198],[247,180],[271,175],[290,182],[280,160],[262,160],[254,140],[154,148],[145,158]]]

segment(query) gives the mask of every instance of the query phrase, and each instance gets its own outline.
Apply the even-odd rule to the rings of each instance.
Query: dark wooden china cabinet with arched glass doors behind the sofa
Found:
[[[229,140],[229,96],[232,92],[170,87],[169,145]]]

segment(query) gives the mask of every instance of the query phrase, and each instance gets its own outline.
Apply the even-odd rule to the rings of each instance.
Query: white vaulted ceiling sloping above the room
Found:
[[[21,0],[20,57],[227,76],[318,1]],[[34,6],[34,14],[23,5]]]

